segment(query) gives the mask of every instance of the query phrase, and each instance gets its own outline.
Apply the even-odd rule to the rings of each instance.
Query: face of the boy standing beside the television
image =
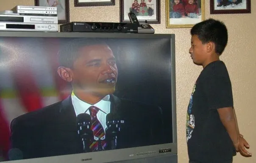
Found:
[[[198,35],[192,35],[189,53],[196,65],[203,65],[203,63],[206,61],[206,46],[207,44],[203,44],[202,41],[199,40]]]

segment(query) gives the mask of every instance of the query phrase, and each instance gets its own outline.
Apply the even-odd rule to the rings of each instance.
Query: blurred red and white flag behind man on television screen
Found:
[[[0,160],[8,160],[15,117],[67,98],[55,38],[0,38]]]

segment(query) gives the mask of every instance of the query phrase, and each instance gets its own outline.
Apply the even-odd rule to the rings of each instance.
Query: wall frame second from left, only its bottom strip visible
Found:
[[[74,0],[75,7],[115,5],[115,0]]]

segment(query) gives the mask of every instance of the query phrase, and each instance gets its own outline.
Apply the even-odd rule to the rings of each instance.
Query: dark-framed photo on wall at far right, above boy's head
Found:
[[[210,0],[210,14],[250,14],[250,0]]]

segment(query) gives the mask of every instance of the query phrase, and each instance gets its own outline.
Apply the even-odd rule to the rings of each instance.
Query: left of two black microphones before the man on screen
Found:
[[[89,114],[81,113],[77,116],[78,135],[83,144],[83,152],[91,152],[89,148],[90,141],[93,141],[93,132],[90,129],[92,126],[91,117]]]

